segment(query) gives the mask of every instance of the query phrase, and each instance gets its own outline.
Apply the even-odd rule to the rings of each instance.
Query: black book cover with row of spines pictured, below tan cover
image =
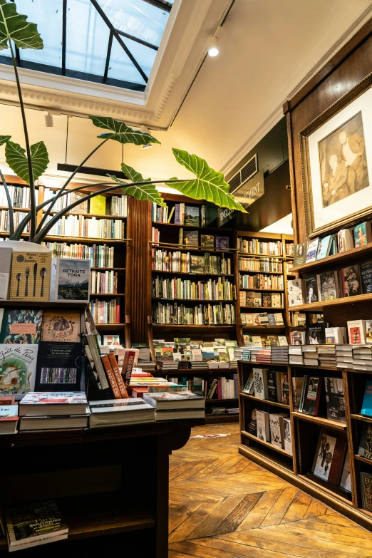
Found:
[[[35,391],[81,391],[81,343],[41,341]]]

